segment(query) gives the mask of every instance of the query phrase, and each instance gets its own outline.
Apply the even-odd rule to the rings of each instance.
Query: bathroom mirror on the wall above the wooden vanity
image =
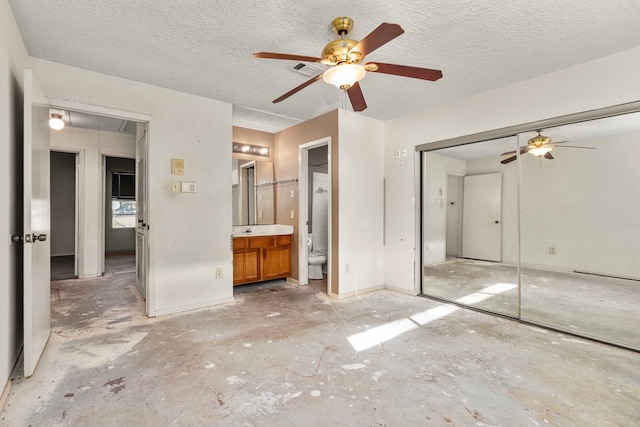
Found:
[[[273,162],[231,161],[233,225],[274,224]]]

